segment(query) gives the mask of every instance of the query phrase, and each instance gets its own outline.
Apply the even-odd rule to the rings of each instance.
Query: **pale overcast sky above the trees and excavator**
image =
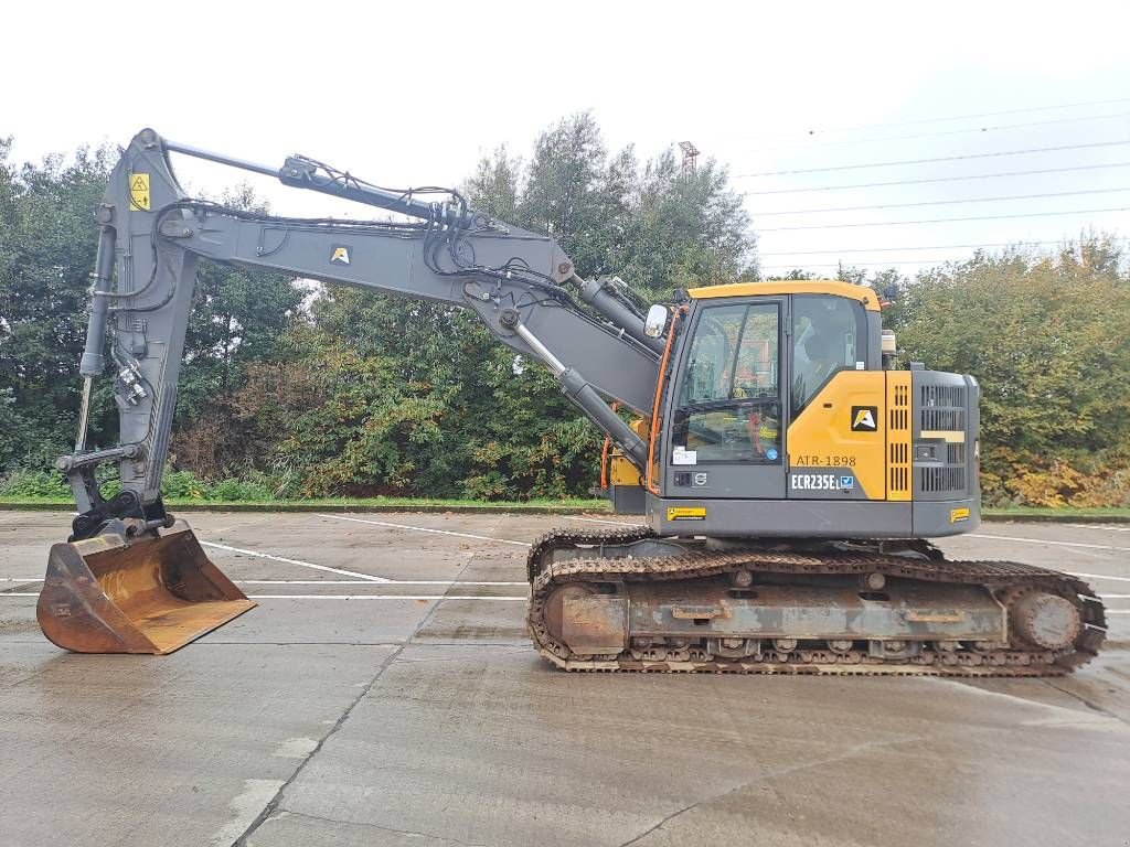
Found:
[[[770,273],[1130,235],[1124,2],[19,2],[3,20],[0,136],[18,159],[149,125],[270,165],[303,152],[382,184],[455,184],[592,110],[611,148],[690,140],[728,164]],[[1077,149],[985,156],[1049,147]],[[977,158],[857,167],[957,156]],[[174,164],[195,191],[246,178],[282,213],[358,213]],[[840,169],[742,176],[812,168]],[[1053,173],[949,178],[1027,171]],[[922,180],[944,181],[838,187]],[[937,202],[1006,197],[1024,199]],[[855,208],[906,203],[922,206]]]

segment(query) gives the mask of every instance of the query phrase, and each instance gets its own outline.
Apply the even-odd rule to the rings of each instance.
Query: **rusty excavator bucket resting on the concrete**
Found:
[[[53,545],[36,617],[64,649],[164,655],[254,606],[177,521]]]

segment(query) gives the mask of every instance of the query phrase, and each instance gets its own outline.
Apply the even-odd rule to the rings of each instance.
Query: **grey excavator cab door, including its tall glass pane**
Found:
[[[664,495],[785,496],[785,297],[699,300],[666,428]]]

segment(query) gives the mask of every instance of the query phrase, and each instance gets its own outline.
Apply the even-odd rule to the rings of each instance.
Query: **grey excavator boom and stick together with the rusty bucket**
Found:
[[[395,217],[282,218],[195,200],[177,182],[171,152]],[[302,156],[275,169],[142,130],[111,175],[97,222],[79,431],[75,452],[59,460],[78,515],[71,538],[51,549],[36,606],[44,634],[61,647],[169,653],[255,605],[160,498],[201,256],[469,308],[502,343],[548,367],[628,461],[641,471],[646,464],[647,444],[610,403],[651,413],[666,307],[645,318],[616,281],[581,279],[553,238],[493,220],[455,191],[391,191]],[[119,439],[93,448],[90,396],[107,370]],[[121,491],[107,498],[96,471],[110,462]]]

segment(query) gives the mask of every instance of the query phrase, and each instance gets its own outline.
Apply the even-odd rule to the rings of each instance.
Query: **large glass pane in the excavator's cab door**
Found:
[[[672,427],[697,463],[781,461],[780,321],[775,303],[702,311]]]

